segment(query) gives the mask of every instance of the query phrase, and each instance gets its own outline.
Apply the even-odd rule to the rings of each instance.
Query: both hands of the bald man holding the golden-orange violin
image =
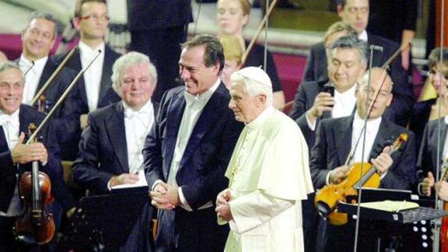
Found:
[[[394,160],[389,155],[390,147],[384,147],[381,154],[379,154],[376,158],[370,159],[370,162],[377,170],[378,174],[382,176],[384,173],[389,170],[390,166],[394,163]],[[350,165],[342,165],[339,166],[330,172],[329,182],[332,184],[339,184],[345,178],[347,178],[350,173]]]

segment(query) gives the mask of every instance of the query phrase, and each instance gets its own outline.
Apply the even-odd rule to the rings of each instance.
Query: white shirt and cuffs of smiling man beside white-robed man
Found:
[[[193,131],[194,125],[198,121],[201,116],[202,110],[205,105],[209,101],[210,97],[213,95],[215,90],[218,88],[221,80],[218,78],[214,85],[200,95],[191,95],[187,92],[184,93],[185,96],[185,110],[182,115],[182,120],[179,126],[179,132],[177,134],[176,146],[174,148],[173,159],[171,161],[170,173],[168,175],[167,184],[176,185],[176,175],[179,170],[179,164],[184,155],[185,148],[187,147],[188,140],[190,138],[191,132]],[[152,188],[158,183],[156,181]],[[179,199],[181,201],[181,207],[187,211],[193,211],[191,207],[188,205],[184,194],[182,192],[182,187],[179,187]],[[200,209],[204,209],[207,207],[213,206],[212,202],[207,202],[204,206],[201,206]]]

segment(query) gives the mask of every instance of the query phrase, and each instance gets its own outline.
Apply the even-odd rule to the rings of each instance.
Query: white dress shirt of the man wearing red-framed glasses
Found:
[[[98,99],[100,94],[101,76],[103,73],[104,50],[105,44],[101,43],[97,48],[92,49],[85,43],[79,41],[79,54],[81,57],[82,68],[86,68],[89,63],[96,57],[98,50],[101,50],[98,58],[92,63],[92,66],[84,73],[84,82],[86,86],[87,103],[89,112],[98,107]]]

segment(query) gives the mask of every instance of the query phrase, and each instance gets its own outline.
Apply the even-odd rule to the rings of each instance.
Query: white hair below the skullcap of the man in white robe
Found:
[[[247,92],[249,96],[257,96],[263,94],[266,96],[266,105],[272,105],[272,88],[264,85],[263,83],[249,79],[238,72],[232,73],[230,76],[231,86],[244,85],[244,91]]]

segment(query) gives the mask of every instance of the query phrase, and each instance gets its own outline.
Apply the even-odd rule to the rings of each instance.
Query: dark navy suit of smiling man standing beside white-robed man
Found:
[[[156,122],[146,138],[143,155],[150,186],[156,180],[167,181],[176,139],[185,137],[178,135],[186,104],[184,92],[185,87],[178,87],[164,94]],[[228,185],[224,173],[243,126],[235,121],[229,101],[229,91],[221,82],[191,132],[176,180],[193,211],[177,207],[160,212],[157,251],[171,251],[172,245],[178,251],[223,249],[228,228],[217,225],[213,207],[198,208],[209,201],[214,204],[218,192]]]

